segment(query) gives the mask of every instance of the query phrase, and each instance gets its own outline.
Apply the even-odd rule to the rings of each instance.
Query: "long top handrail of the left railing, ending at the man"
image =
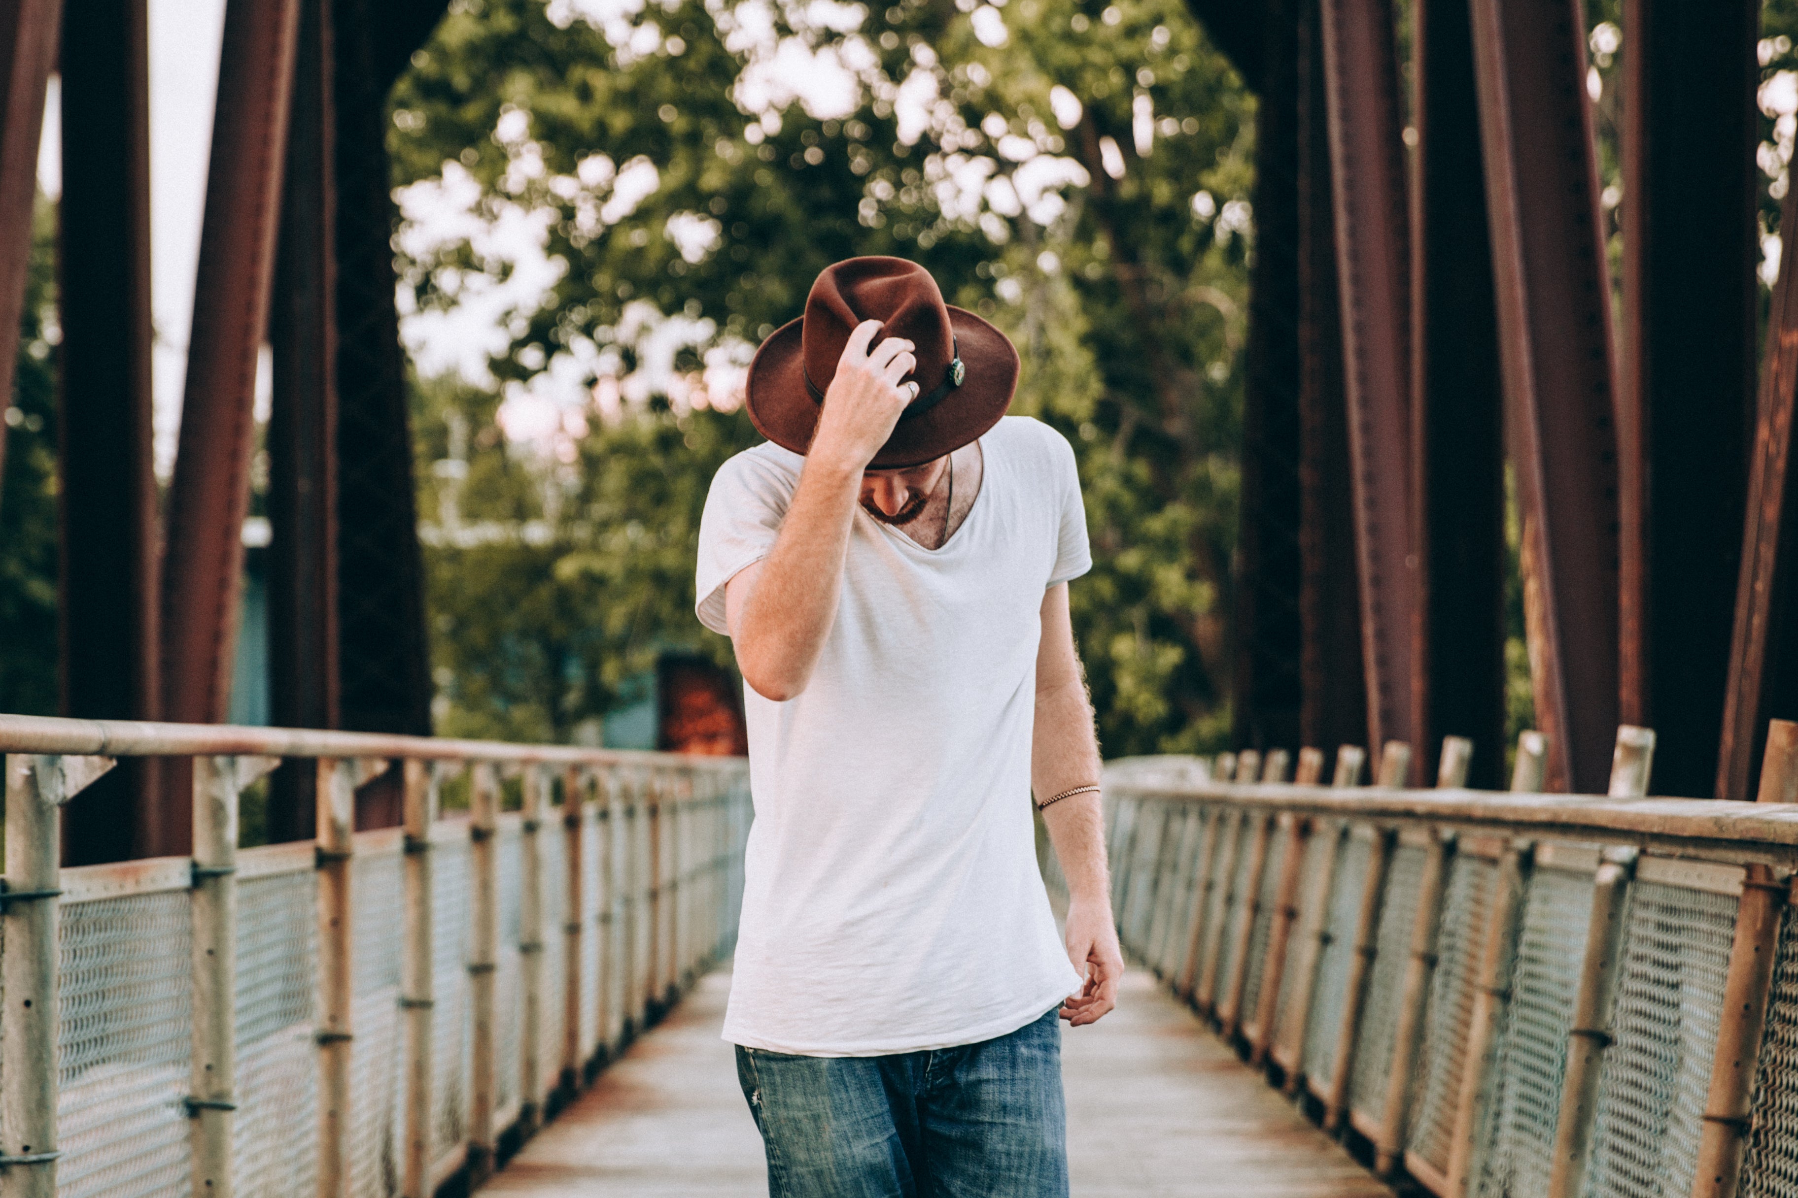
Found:
[[[520,765],[651,765],[681,762],[696,769],[735,769],[734,758],[705,758],[640,749],[453,740],[394,733],[338,733],[306,727],[234,724],[158,724],[0,715],[0,753],[97,756],[289,756],[417,758],[426,762],[503,762]]]

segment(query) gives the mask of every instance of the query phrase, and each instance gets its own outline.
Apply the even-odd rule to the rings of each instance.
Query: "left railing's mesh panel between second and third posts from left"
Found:
[[[315,1187],[318,1144],[318,875],[237,884],[237,1114],[232,1173],[239,1198]]]

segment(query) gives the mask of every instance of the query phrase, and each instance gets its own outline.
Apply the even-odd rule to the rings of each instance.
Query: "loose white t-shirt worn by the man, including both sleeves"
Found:
[[[1030,733],[1043,593],[1086,573],[1073,449],[1007,417],[940,550],[858,510],[806,690],[744,686],[750,830],[725,1040],[806,1056],[975,1044],[1081,979],[1036,866]],[[773,548],[804,458],[726,462],[699,523],[698,612]]]

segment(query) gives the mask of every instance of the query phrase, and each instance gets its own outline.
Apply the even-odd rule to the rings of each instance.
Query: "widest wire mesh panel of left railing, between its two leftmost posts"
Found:
[[[61,911],[58,957],[58,1193],[183,1198],[192,1153],[189,893]]]

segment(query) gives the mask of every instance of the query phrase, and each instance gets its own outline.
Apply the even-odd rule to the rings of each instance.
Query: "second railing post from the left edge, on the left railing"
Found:
[[[194,760],[192,1191],[230,1198],[237,1110],[237,794],[255,758]],[[252,774],[254,776],[254,774]]]

